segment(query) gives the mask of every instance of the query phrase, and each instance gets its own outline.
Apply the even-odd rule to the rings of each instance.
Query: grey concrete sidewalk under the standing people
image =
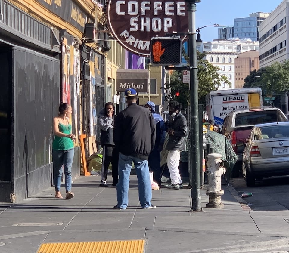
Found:
[[[100,179],[74,179],[70,200],[55,199],[51,187],[20,204],[0,205],[0,252],[34,253],[52,242],[138,239],[146,241],[145,252],[159,253],[289,249],[289,211],[251,211],[232,187],[222,186],[224,209],[205,208],[208,196],[202,189],[203,211],[190,212],[189,189],[161,188],[153,190],[157,208],[142,210],[137,178],[131,176],[128,208],[113,210],[115,187],[99,187]]]

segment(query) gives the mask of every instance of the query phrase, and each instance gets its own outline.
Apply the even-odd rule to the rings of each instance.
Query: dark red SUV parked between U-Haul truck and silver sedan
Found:
[[[239,171],[242,168],[243,151],[253,126],[277,121],[287,122],[288,119],[280,109],[273,106],[234,110],[224,119],[221,134],[228,138],[238,156],[232,177],[239,176]]]

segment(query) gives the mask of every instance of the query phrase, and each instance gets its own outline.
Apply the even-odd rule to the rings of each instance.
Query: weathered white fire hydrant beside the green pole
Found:
[[[222,155],[213,153],[207,155],[207,158],[208,168],[206,173],[209,177],[209,189],[206,195],[209,195],[209,203],[206,204],[206,207],[223,208],[221,195],[224,194],[224,191],[221,190],[221,176],[226,173],[226,169],[224,168],[224,162],[221,160]]]

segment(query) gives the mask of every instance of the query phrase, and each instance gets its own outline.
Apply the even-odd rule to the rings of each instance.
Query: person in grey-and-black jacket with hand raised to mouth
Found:
[[[108,102],[100,111],[98,121],[100,125],[100,143],[103,148],[101,182],[100,186],[108,187],[106,182],[108,166],[111,163],[112,185],[116,186],[118,182],[118,157],[119,152],[113,142],[113,127],[115,120],[115,107],[113,103]]]

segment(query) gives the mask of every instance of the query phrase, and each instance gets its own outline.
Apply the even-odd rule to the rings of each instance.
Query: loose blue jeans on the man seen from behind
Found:
[[[134,156],[125,156],[122,153],[120,153],[118,160],[117,207],[126,209],[129,203],[129,175],[132,169],[132,162],[135,165],[135,172],[138,177],[139,202],[141,207],[150,207],[151,180],[148,161]]]

